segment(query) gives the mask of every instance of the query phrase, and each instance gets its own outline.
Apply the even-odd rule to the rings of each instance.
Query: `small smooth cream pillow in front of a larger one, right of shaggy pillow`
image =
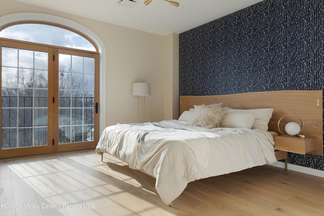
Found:
[[[222,122],[222,127],[251,129],[254,119],[255,117],[252,113],[227,113]]]

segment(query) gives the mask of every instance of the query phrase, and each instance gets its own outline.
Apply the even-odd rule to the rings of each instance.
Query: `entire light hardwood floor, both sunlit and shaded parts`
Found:
[[[189,183],[169,207],[153,178],[100,157],[0,160],[0,215],[324,215],[320,177],[264,165]]]

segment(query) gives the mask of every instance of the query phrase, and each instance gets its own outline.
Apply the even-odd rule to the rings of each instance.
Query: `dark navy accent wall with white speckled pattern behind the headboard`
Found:
[[[179,95],[322,90],[322,0],[265,0],[179,35]],[[324,170],[323,156],[289,163]]]

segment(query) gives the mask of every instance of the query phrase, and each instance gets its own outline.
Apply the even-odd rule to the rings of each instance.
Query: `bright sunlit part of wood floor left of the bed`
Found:
[[[151,177],[92,152],[0,162],[0,174],[0,215],[174,215]]]

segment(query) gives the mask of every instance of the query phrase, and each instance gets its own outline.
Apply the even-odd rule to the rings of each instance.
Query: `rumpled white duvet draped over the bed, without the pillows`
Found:
[[[189,182],[276,161],[272,136],[258,129],[188,127],[178,120],[106,127],[96,152],[156,179],[171,203]]]

